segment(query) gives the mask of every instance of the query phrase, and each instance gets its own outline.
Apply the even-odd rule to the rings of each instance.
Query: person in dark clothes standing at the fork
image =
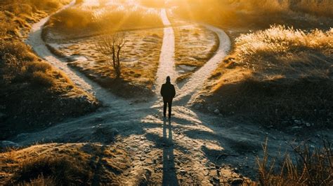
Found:
[[[163,96],[163,115],[166,117],[166,104],[168,104],[169,108],[169,118],[171,118],[171,106],[172,106],[172,99],[176,95],[176,90],[174,85],[170,83],[170,76],[166,77],[166,83],[164,83],[161,87],[161,95]]]

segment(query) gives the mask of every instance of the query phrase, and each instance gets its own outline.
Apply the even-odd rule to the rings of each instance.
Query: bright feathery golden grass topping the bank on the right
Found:
[[[295,60],[307,66],[311,65],[312,68],[307,68],[310,71],[315,69],[325,71],[332,65],[332,60],[309,61],[306,52],[315,52],[332,59],[332,41],[333,29],[328,31],[314,29],[306,32],[278,25],[236,38],[234,54],[237,55],[237,63],[254,71],[272,68],[291,69]]]

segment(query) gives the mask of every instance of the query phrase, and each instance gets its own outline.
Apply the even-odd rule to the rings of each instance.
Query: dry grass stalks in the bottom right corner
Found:
[[[273,157],[263,145],[263,158],[257,158],[261,185],[332,185],[332,144],[322,140],[322,148],[311,148],[308,143],[294,148],[295,155]],[[295,159],[293,159],[296,157]],[[281,161],[282,160],[282,161]],[[277,162],[282,162],[278,164]],[[295,163],[296,162],[296,163]]]

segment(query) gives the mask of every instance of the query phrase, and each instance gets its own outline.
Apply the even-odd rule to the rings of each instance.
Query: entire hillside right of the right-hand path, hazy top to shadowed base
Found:
[[[223,27],[233,41],[197,108],[266,126],[330,127],[332,1],[177,1],[174,15]],[[212,16],[214,15],[214,16]]]

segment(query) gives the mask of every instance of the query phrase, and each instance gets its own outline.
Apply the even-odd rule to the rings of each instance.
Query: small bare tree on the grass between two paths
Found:
[[[120,78],[120,52],[126,44],[126,33],[115,32],[110,35],[100,36],[96,43],[97,50],[106,58],[107,66],[112,66],[115,69],[116,77]]]

